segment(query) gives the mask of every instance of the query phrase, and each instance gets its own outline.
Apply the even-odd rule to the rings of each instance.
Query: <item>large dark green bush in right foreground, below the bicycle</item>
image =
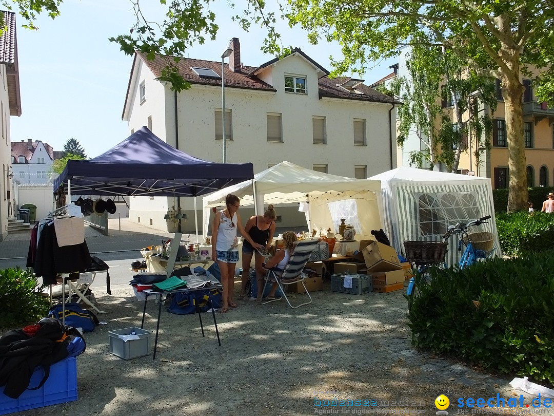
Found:
[[[412,343],[554,384],[554,255],[433,269],[409,314]]]

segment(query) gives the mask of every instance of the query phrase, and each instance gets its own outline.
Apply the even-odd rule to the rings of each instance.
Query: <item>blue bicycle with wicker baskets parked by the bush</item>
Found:
[[[458,222],[456,225],[450,225],[448,231],[442,236],[442,242],[404,241],[408,260],[412,261],[417,268],[416,275],[409,280],[406,291],[409,313],[412,312],[414,298],[420,295],[420,288],[423,285],[428,285],[431,281],[430,268],[440,267],[440,264],[447,267],[444,262],[448,247],[446,241],[451,235],[459,235],[458,251],[461,252],[461,247],[465,246],[464,253],[458,262],[460,269],[479,261],[480,258],[489,258],[493,255],[493,234],[490,232],[479,232],[475,235],[468,233],[469,227],[487,224],[486,220],[490,217],[490,215],[487,215],[478,220],[470,221],[468,224]]]

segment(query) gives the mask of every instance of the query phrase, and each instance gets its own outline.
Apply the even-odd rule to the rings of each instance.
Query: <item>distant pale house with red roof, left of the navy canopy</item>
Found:
[[[12,142],[12,172],[20,185],[49,184],[48,173],[54,164],[54,150],[40,140]]]

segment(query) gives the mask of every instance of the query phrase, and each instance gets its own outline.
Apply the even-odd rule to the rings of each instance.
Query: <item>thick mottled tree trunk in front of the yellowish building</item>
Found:
[[[517,65],[517,64],[516,64]],[[508,145],[508,207],[507,212],[527,210],[527,161],[523,129],[524,86],[519,80],[519,68],[502,77],[502,97],[506,116],[506,139]]]

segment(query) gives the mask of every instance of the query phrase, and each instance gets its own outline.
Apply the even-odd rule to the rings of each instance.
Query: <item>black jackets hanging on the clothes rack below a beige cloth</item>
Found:
[[[31,239],[30,245],[33,244]],[[29,253],[32,252],[29,247]],[[32,257],[32,256],[29,256]],[[34,258],[33,267],[35,275],[42,277],[45,285],[55,285],[58,273],[82,272],[92,266],[89,247],[86,241],[73,246],[58,246],[54,224],[45,225],[38,238],[37,252]]]

